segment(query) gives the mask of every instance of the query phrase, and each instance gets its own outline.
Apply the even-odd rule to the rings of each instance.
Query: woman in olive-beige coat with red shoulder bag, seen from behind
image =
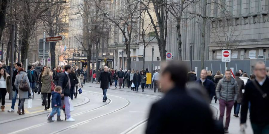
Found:
[[[42,88],[41,93],[43,95],[43,104],[45,106],[45,110],[50,108],[51,105],[51,82],[52,82],[52,71],[50,68],[46,68],[43,72],[42,78]],[[48,103],[47,103],[48,98]]]

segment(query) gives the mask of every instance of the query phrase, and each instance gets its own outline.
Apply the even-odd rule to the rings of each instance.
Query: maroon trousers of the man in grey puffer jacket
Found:
[[[225,122],[224,129],[229,128],[230,116],[231,116],[231,111],[232,111],[232,108],[233,108],[233,104],[234,104],[233,101],[226,102],[223,99],[219,100],[219,111],[220,111],[219,121],[220,122],[223,122],[223,116],[224,116],[225,107],[227,108],[227,110],[226,110],[226,122]]]

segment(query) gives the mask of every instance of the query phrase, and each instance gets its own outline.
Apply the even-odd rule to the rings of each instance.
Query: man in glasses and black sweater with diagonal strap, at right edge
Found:
[[[247,82],[241,107],[241,130],[246,128],[247,108],[250,102],[250,122],[254,133],[269,133],[269,78],[265,64],[258,61],[254,66],[255,80]]]

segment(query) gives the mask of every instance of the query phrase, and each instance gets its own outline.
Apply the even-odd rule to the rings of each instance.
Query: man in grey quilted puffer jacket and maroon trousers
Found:
[[[220,110],[219,120],[221,122],[223,122],[225,107],[227,108],[224,133],[229,133],[228,128],[230,124],[231,110],[238,96],[237,82],[231,76],[232,76],[231,71],[226,70],[225,77],[219,80],[216,87],[216,97],[219,100],[219,110]]]

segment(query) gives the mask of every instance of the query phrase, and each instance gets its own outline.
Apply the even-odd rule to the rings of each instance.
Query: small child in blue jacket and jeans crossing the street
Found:
[[[61,120],[61,93],[62,93],[62,87],[56,86],[54,91],[51,93],[52,94],[52,99],[51,99],[51,107],[52,111],[50,115],[48,116],[48,121],[53,122],[52,117],[54,114],[57,112],[57,121],[62,121]]]

